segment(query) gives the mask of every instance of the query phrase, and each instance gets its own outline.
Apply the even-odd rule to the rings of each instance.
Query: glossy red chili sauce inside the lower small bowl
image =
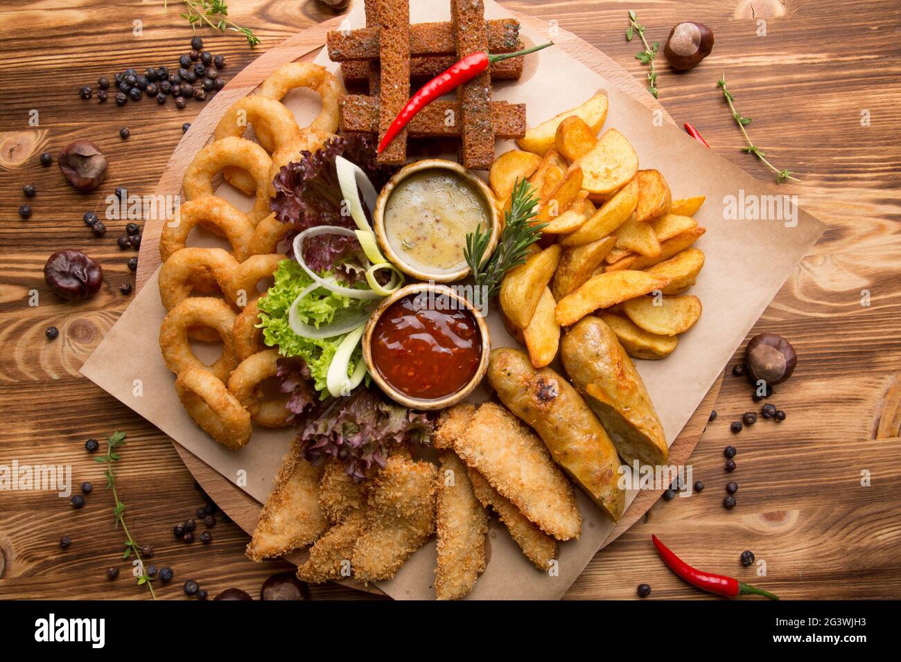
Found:
[[[391,304],[372,333],[372,359],[409,397],[456,393],[476,374],[482,337],[475,316],[447,295],[408,295]]]

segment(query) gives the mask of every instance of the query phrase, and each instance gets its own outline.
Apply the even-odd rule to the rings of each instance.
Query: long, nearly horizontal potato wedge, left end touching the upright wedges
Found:
[[[557,322],[571,326],[598,308],[609,308],[669,285],[669,279],[624,269],[593,276],[557,304]]]

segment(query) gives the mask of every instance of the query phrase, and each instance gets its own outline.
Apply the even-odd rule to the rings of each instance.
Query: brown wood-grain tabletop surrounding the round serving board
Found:
[[[575,32],[636,77],[647,69],[623,37],[626,5],[575,2],[503,4]],[[129,526],[155,549],[154,563],[171,566],[176,581],[157,585],[177,598],[194,578],[216,594],[239,586],[251,594],[286,562],[253,564],[243,556],[248,538],[219,521],[214,543],[187,546],[170,531],[194,516],[202,498],[187,468],[159,431],[78,375],[78,367],[129,303],[119,285],[132,282],[117,248],[123,229],[95,239],[81,220],[105,208],[115,186],[150,192],[199,104],[177,111],[151,101],[117,108],[82,101],[77,88],[96,86],[114,70],[175,64],[191,31],[177,2],[110,5],[72,0],[41,10],[0,4],[0,465],[61,464],[76,485],[96,485],[86,507],[73,510],[51,492],[0,493],[0,598],[143,599],[121,560],[122,531],[114,529],[112,497],[102,467],[84,449],[127,431],[118,463],[120,496]],[[296,30],[332,17],[303,3],[232,4],[232,19],[262,39],[250,50],[238,36],[205,31],[206,47],[228,60],[226,77]],[[727,374],[716,404],[719,417],[698,444],[691,463],[701,494],[660,501],[591,563],[569,591],[571,598],[628,598],[647,582],[653,596],[702,597],[672,576],[657,558],[651,532],[700,567],[760,583],[787,598],[872,598],[901,595],[901,268],[897,229],[901,205],[901,11],[886,3],[742,0],[711,3],[638,3],[633,8],[650,41],[666,40],[681,20],[714,30],[714,53],[688,74],[658,67],[660,101],[677,122],[692,122],[711,147],[760,178],[769,171],[742,154],[742,138],[716,88],[725,73],[736,104],[754,118],[749,131],[779,168],[802,181],[786,186],[829,225],[812,254],[796,268],[753,332],[775,331],[795,345],[800,361],[772,402],[787,412],[780,424],[760,421],[738,436],[729,422],[758,405],[743,378]],[[142,33],[132,34],[135,20]],[[29,124],[30,112],[39,125]],[[132,136],[119,138],[128,126]],[[38,164],[68,141],[89,138],[110,160],[105,185],[77,195],[59,170]],[[38,194],[24,198],[22,186]],[[32,204],[31,220],[17,208]],[[119,222],[123,224],[124,222]],[[101,261],[105,286],[83,304],[63,304],[41,277],[47,256],[60,248],[85,249]],[[735,247],[736,250],[748,247]],[[29,305],[37,290],[40,304]],[[861,304],[863,291],[869,305]],[[57,340],[44,330],[59,327]],[[738,360],[737,358],[735,359]],[[729,366],[731,368],[732,365]],[[727,369],[729,369],[727,368]],[[726,474],[723,449],[733,443],[738,469]],[[740,485],[737,508],[726,511],[724,485]],[[861,482],[869,485],[861,485]],[[77,490],[77,488],[76,488]],[[203,529],[203,527],[201,527]],[[59,538],[73,542],[59,549]],[[751,549],[766,561],[754,576],[738,558]],[[110,582],[105,567],[123,573]],[[349,588],[314,588],[314,597],[369,597]]]

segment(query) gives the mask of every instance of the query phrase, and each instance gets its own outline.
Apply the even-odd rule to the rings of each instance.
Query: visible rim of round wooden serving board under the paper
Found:
[[[534,30],[546,30],[545,24],[528,16],[514,12],[509,14]],[[259,59],[254,60],[248,67],[233,77],[229,84],[206,105],[204,111],[197,116],[195,122],[192,122],[191,130],[187,131],[184,138],[178,143],[172,157],[168,161],[163,176],[159,179],[159,184],[155,191],[156,195],[177,195],[181,190],[182,178],[185,175],[188,164],[194,159],[197,150],[200,150],[211,140],[215,126],[223,113],[235,101],[253,92],[264,78],[268,77],[270,73],[286,62],[314,59],[323,48],[326,32],[338,29],[342,19],[343,17],[336,17],[331,21],[320,23],[304,32],[297,33],[294,37],[282,42],[275,49],[261,55]],[[660,106],[657,99],[648,94],[638,80],[616,64],[613,59],[608,58],[586,41],[582,41],[571,32],[560,29],[559,34],[554,35],[554,43],[558,48],[567,51],[573,58],[578,59],[579,62],[605,77],[612,85],[633,96],[643,105],[652,110],[659,110],[666,122],[673,122],[669,113]],[[162,230],[162,222],[162,220],[149,221],[144,228],[136,278],[136,287],[139,290],[159,267],[159,234]],[[723,376],[720,376],[706,394],[694,415],[687,422],[685,428],[678,435],[678,438],[673,441],[669,449],[670,463],[681,465],[687,462],[705,430],[707,417],[713,408],[722,382]],[[253,531],[259,519],[261,504],[250,497],[250,495],[241,491],[240,488],[232,485],[226,478],[197,458],[193,453],[181,447],[177,442],[173,441],[173,445],[191,474],[203,486],[206,493],[214,499],[215,503],[224,512],[227,512],[232,520],[241,526],[241,529],[248,533]],[[638,521],[645,512],[648,512],[651,506],[660,498],[660,494],[661,492],[652,491],[640,493],[623,514],[623,519],[619,521],[610,537],[605,540],[605,545],[615,540],[623,531],[629,529],[635,521]],[[288,560],[291,560],[291,558],[289,557]],[[341,583],[356,586],[362,590],[380,593],[373,586],[364,588],[353,580]]]

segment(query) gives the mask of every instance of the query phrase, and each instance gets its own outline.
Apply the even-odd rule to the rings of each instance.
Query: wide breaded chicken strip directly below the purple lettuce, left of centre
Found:
[[[369,491],[366,531],[350,558],[362,582],[390,579],[435,527],[438,470],[401,455],[387,459]]]

